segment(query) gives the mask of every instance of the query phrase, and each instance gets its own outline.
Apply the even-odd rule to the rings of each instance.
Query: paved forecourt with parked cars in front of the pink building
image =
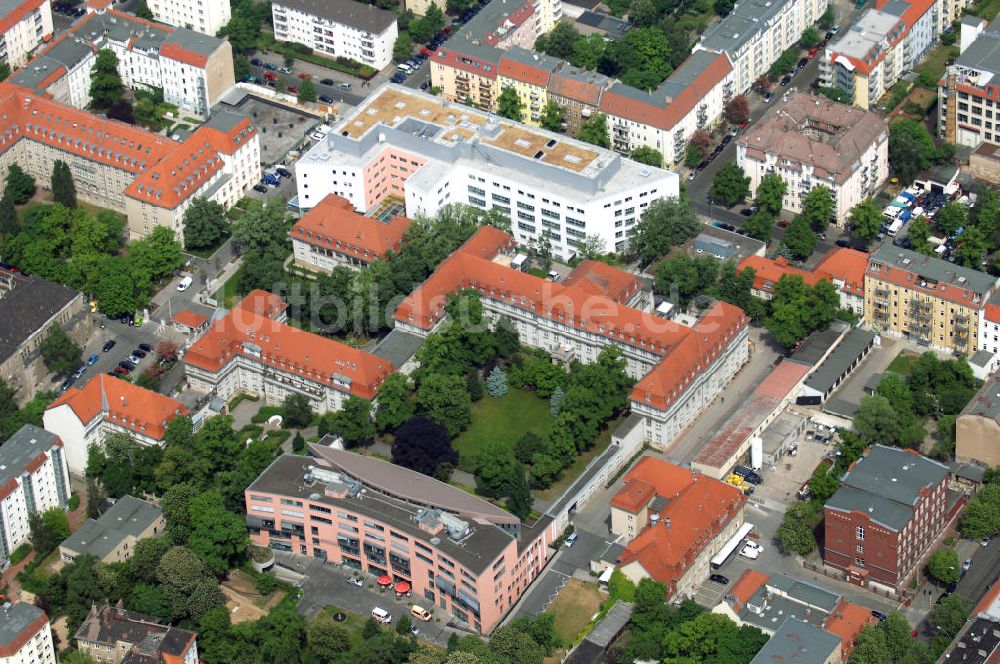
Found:
[[[291,561],[291,562],[289,562]],[[316,560],[313,558],[303,558],[301,556],[280,555],[279,564],[283,563],[299,574],[304,574],[305,578],[301,582],[302,599],[299,600],[298,611],[312,620],[324,606],[334,605],[355,613],[362,618],[371,615],[372,609],[380,607],[392,614],[392,621],[395,624],[399,617],[409,614],[410,607],[419,604],[425,609],[433,609],[433,603],[422,597],[402,597],[397,599],[393,592],[380,592],[375,586],[375,578],[371,575],[363,575],[364,587],[358,587],[347,582],[353,576],[353,570]],[[443,619],[450,619],[444,614]],[[444,622],[438,622],[438,618],[430,622],[421,622],[413,619],[413,625],[419,630],[417,638],[427,641],[438,647],[447,647],[448,638],[457,633],[464,636],[467,632],[447,627]]]

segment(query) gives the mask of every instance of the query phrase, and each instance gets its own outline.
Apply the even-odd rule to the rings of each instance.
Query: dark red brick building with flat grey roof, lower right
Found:
[[[947,479],[947,466],[913,450],[873,447],[823,507],[824,564],[852,583],[895,592],[956,507]]]

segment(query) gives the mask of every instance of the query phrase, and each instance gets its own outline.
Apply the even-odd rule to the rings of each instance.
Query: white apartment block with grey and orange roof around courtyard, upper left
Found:
[[[11,80],[74,108],[90,103],[96,51],[110,49],[130,88],[161,88],[185,115],[208,117],[236,83],[228,40],[170,28],[113,10],[90,13]]]

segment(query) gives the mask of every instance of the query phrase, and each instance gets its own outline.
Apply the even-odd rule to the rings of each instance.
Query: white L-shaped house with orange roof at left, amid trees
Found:
[[[102,445],[112,433],[127,434],[140,445],[162,445],[170,420],[187,414],[176,399],[99,374],[83,387],[63,392],[45,410],[42,422],[62,439],[69,469],[83,475],[91,445]]]

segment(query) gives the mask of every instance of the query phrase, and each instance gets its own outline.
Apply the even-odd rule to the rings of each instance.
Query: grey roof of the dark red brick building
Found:
[[[886,528],[900,531],[913,516],[920,490],[934,487],[948,467],[919,454],[876,445],[844,475],[826,506],[845,512],[867,512]]]

